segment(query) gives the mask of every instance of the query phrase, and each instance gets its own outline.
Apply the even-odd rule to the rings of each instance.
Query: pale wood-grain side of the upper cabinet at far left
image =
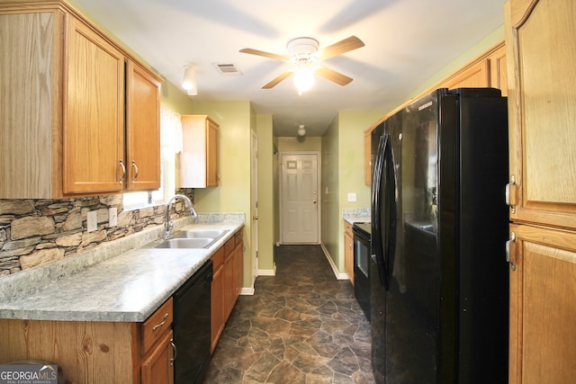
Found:
[[[0,14],[0,198],[62,193],[63,25],[58,11]]]

